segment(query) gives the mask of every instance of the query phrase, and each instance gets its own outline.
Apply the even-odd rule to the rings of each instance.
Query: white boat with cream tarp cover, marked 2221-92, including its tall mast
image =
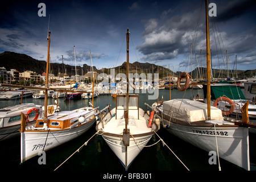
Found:
[[[187,99],[154,103],[154,109],[167,131],[205,151],[217,151],[222,159],[250,170],[249,123],[247,104],[242,108],[242,121],[223,117],[221,110],[210,106],[210,38],[208,1],[205,1],[207,40],[207,104]],[[180,78],[181,79],[181,78]],[[219,166],[219,169],[220,166]]]

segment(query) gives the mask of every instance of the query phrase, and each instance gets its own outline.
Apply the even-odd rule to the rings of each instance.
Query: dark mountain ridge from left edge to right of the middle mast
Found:
[[[34,71],[40,75],[42,75],[43,72],[46,72],[46,61],[42,60],[36,60],[28,55],[21,54],[21,53],[15,53],[15,52],[10,52],[10,51],[5,51],[0,54],[0,67],[5,67],[7,71],[10,71],[10,69],[16,69],[19,72],[24,72],[24,71]],[[75,75],[75,66],[64,64],[59,64],[59,63],[51,63],[50,65],[52,73],[57,76],[59,72],[63,72],[62,70],[64,69],[64,72],[67,71],[67,74],[69,76]],[[174,72],[172,72],[170,69],[163,68],[161,66],[155,65],[155,64],[150,64],[150,63],[139,63],[139,62],[134,62],[130,63],[130,73],[136,73],[136,68],[137,68],[137,73],[140,75],[142,72],[143,73],[159,73],[159,77],[162,76],[167,76],[167,74],[172,74],[174,75]],[[90,65],[83,64],[81,66],[77,66],[77,74],[82,75],[90,71]],[[95,66],[93,66],[93,71],[97,73],[106,73],[110,75],[110,69],[113,68],[102,68],[102,69],[97,69]],[[126,62],[124,62],[121,66],[119,67],[114,67],[115,73],[126,73]],[[120,71],[120,72],[119,72]]]

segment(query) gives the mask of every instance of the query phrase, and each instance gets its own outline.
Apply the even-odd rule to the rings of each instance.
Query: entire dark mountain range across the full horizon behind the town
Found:
[[[24,71],[34,71],[40,75],[42,75],[43,72],[46,72],[46,61],[42,60],[36,60],[28,55],[21,54],[21,53],[15,53],[10,51],[5,51],[0,54],[0,67],[5,67],[7,71],[10,71],[10,69],[16,69],[19,72]],[[59,63],[51,63],[51,70],[54,75],[58,75],[59,72],[66,71],[69,76],[75,75],[75,66]],[[82,75],[90,71],[90,65],[83,64],[81,66],[77,66],[77,74]],[[93,71],[97,73],[106,73],[110,75],[110,69],[113,68],[102,68],[97,69],[93,66]],[[119,65],[118,67],[114,67],[115,74],[118,73],[125,73],[126,74],[126,61],[123,62],[122,65]],[[174,73],[170,69],[164,68],[159,65],[150,64],[150,63],[139,63],[138,61],[135,61],[134,63],[129,64],[130,73],[138,73],[141,75],[141,73],[159,73],[159,78],[162,78],[163,76],[177,76],[179,73]],[[189,72],[189,75],[192,75],[193,78],[196,78],[196,75],[198,78],[200,78],[200,74],[203,72],[203,78],[205,78],[205,68],[196,68],[192,72]],[[235,75],[236,71],[233,71],[233,75]],[[213,77],[218,78],[220,75],[220,78],[226,78],[227,72],[225,69],[213,69],[212,71]],[[239,78],[245,78],[245,77],[251,77],[253,75],[256,75],[256,69],[254,70],[237,70],[237,74]],[[232,76],[232,71],[229,71],[229,77]]]

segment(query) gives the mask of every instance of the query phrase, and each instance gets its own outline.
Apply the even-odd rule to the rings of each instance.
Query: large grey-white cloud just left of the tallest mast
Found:
[[[199,10],[175,16],[168,16],[168,12],[171,10],[164,11],[162,19],[149,19],[144,24],[144,42],[137,48],[145,61],[173,59],[185,53],[193,41]]]

